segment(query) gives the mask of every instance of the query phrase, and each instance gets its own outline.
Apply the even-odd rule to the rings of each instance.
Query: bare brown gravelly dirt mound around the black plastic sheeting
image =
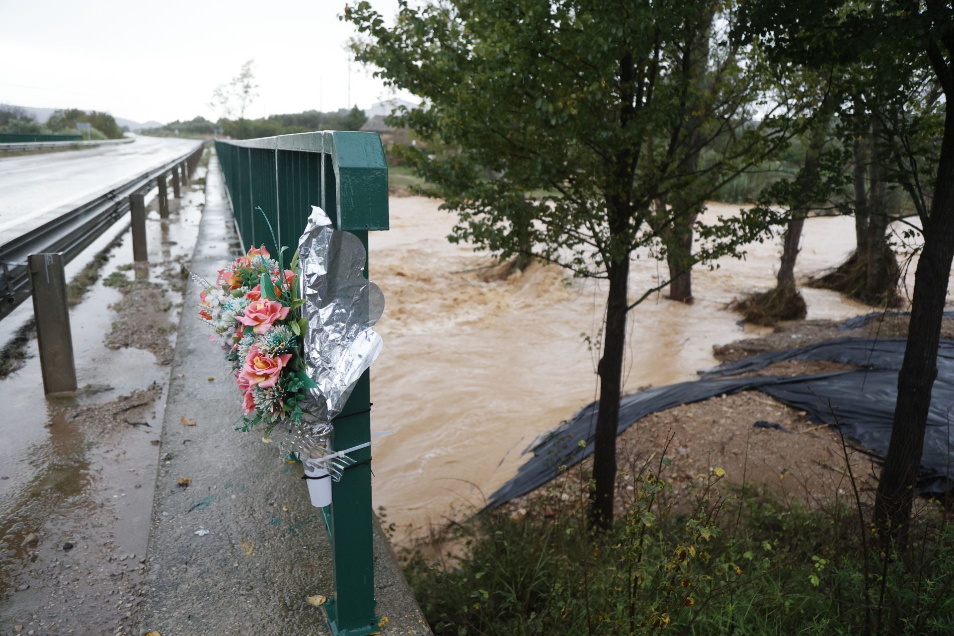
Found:
[[[762,338],[742,339],[715,346],[716,359],[732,361],[767,351],[804,346],[835,338],[904,338],[907,316],[888,314],[851,330],[839,330],[831,320],[781,323]],[[944,319],[943,338],[954,337],[954,320]],[[789,360],[771,364],[752,375],[800,376],[830,373],[853,367],[829,361]],[[783,499],[815,505],[854,497],[855,478],[862,502],[873,499],[878,468],[851,441],[825,424],[808,420],[803,411],[772,400],[758,391],[720,396],[653,413],[627,429],[616,441],[619,473],[616,508],[630,505],[634,476],[645,468],[656,471],[663,457],[664,479],[673,484],[667,497],[688,509],[694,489],[725,471],[724,483],[741,492],[768,489]],[[721,471],[717,471],[721,472]],[[506,504],[521,515],[529,499],[559,498],[587,501],[591,459],[537,490]]]

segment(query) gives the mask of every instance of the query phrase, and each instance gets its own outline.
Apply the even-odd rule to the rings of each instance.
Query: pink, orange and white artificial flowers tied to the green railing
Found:
[[[265,434],[279,422],[301,423],[302,403],[316,384],[307,373],[302,337],[307,320],[301,315],[299,254],[285,269],[264,245],[252,247],[218,270],[215,284],[202,286],[198,316],[210,324],[232,363],[241,392],[244,416],[239,430],[259,422]]]

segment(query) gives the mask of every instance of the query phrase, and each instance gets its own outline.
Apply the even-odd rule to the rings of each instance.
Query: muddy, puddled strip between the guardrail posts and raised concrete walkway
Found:
[[[35,340],[25,366],[0,380],[0,632],[135,625],[180,272],[195,246],[204,170],[168,221],[148,215],[151,267],[133,266],[125,232],[71,310],[76,395],[45,398]]]

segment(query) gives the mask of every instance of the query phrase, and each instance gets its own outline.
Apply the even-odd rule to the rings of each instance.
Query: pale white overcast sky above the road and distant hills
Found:
[[[248,117],[367,108],[395,95],[352,63],[348,102],[354,28],[338,19],[348,1],[0,0],[0,103],[215,120],[213,89],[254,59]],[[371,5],[387,19],[397,10],[397,0]]]

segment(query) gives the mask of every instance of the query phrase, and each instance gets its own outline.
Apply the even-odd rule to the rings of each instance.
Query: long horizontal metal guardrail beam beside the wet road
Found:
[[[69,142],[67,142],[69,143]],[[196,169],[203,144],[141,174],[109,192],[96,196],[64,215],[0,244],[0,318],[30,297],[28,257],[34,254],[63,255],[64,264],[73,260],[93,240],[106,232],[130,210],[130,195],[144,195],[159,186],[160,206],[165,205],[165,177],[180,168],[189,174]]]

